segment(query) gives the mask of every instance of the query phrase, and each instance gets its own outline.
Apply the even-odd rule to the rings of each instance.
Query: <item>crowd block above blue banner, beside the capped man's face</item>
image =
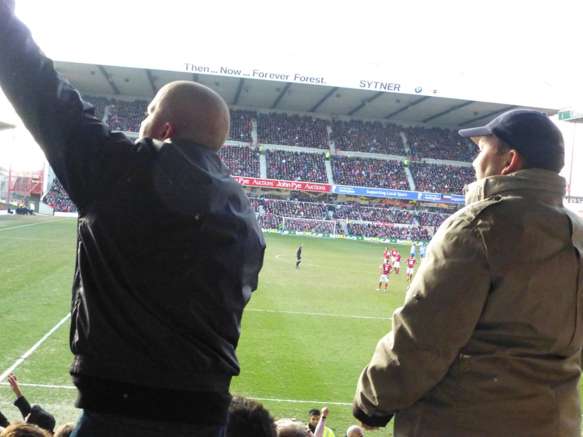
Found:
[[[463,194],[463,187],[476,180],[473,167],[409,163],[417,191]]]

